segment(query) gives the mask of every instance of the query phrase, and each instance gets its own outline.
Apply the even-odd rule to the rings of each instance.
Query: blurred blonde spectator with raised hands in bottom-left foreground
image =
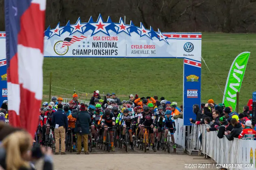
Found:
[[[31,135],[26,131],[18,131],[8,135],[0,148],[0,165],[6,170],[33,170],[29,161],[36,159],[37,150],[31,151]],[[39,157],[45,154],[43,170],[52,170],[52,150],[39,149]]]

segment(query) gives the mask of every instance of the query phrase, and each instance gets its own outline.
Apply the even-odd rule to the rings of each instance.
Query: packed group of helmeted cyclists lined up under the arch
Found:
[[[68,116],[68,126],[74,132],[75,118],[72,114],[80,112],[82,103],[77,100],[78,96],[73,95],[73,100],[63,102],[61,97],[53,96],[51,102],[43,102],[39,113],[39,128],[40,143],[45,145],[49,141],[49,130],[54,128],[51,122],[53,114],[57,111],[58,104],[63,105],[63,114]],[[111,150],[115,151],[114,138],[122,142],[128,130],[130,139],[130,149],[134,150],[134,139],[137,143],[141,142],[144,134],[144,128],[147,128],[150,134],[150,143],[154,152],[159,150],[162,133],[164,133],[164,142],[166,143],[168,131],[170,131],[173,148],[176,148],[174,141],[174,132],[176,130],[173,116],[180,114],[180,108],[177,107],[176,102],[161,100],[157,106],[156,100],[152,97],[138,98],[136,100],[123,100],[122,104],[116,103],[114,99],[107,98],[106,103],[103,99],[94,99],[94,104],[85,104],[85,110],[91,116],[90,132],[92,135],[92,142],[95,146],[95,136],[103,133],[103,143],[106,142],[106,136],[109,129]],[[119,104],[119,105],[118,105]],[[96,129],[99,134],[96,134]],[[118,135],[114,135],[114,129],[117,130]],[[54,131],[54,129],[52,129]],[[157,133],[156,133],[157,132]],[[157,136],[156,136],[157,135]],[[155,141],[155,139],[157,141]],[[75,135],[73,135],[73,151],[75,151]],[[97,141],[99,142],[99,141]],[[155,145],[155,143],[157,143]],[[156,146],[156,147],[155,147]],[[156,149],[157,148],[157,149]],[[148,148],[147,148],[148,150]]]

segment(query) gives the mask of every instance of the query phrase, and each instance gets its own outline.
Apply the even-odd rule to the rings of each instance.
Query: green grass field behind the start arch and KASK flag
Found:
[[[241,52],[250,51],[247,68],[240,90],[240,111],[256,91],[256,34],[202,34],[202,57],[214,74],[202,61],[201,101],[212,98],[221,103],[227,75],[234,58]],[[183,60],[152,58],[44,58],[44,100],[48,100],[49,75],[53,72],[52,95],[71,98],[73,89],[81,100],[88,100],[94,90],[115,92],[117,97],[130,94],[139,97],[164,96],[182,104]],[[221,87],[218,88],[217,83]],[[61,88],[65,89],[61,89]],[[68,90],[70,89],[70,90]],[[65,94],[63,94],[65,93]],[[69,95],[70,94],[70,95]]]

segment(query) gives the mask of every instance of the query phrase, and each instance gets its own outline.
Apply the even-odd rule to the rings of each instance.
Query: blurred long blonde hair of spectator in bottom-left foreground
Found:
[[[22,154],[31,147],[31,135],[25,131],[14,132],[2,141],[6,150],[6,170],[18,170],[20,167],[29,168],[29,162],[22,158]]]

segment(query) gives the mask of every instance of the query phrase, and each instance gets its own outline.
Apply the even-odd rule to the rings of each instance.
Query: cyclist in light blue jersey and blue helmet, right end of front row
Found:
[[[173,129],[170,129],[170,133],[171,133],[171,138],[172,138],[172,143],[173,143],[173,149],[176,149],[176,144],[174,141],[174,132],[176,131],[176,128],[175,128],[174,119],[171,114],[172,114],[172,111],[167,110],[165,112],[165,117],[163,118],[162,123],[163,123],[163,125],[165,125],[165,143],[166,143],[166,138],[167,138],[167,134],[168,134],[168,128],[173,128]]]

